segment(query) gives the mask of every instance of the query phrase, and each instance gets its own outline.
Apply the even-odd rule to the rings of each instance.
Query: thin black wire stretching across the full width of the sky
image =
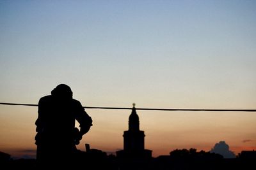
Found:
[[[19,105],[19,106],[38,106],[38,104],[20,104],[20,103],[0,103],[4,105]],[[86,109],[103,109],[103,110],[132,110],[132,108],[118,108],[118,107],[90,107],[90,106],[83,106]],[[158,111],[250,111],[254,112],[256,110],[234,110],[234,109],[163,109],[163,108],[136,108],[136,110],[158,110]]]

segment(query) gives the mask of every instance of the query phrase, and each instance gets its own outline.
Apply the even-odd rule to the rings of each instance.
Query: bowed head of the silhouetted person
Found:
[[[68,85],[60,84],[57,85],[52,91],[52,96],[60,97],[62,99],[72,99],[73,92]]]

